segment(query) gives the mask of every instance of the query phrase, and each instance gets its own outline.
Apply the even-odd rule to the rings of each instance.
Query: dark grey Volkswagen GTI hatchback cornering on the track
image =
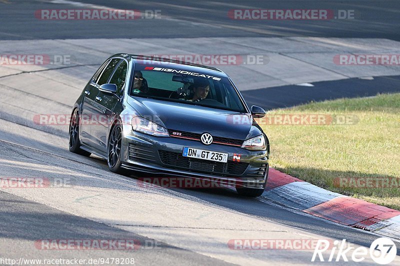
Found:
[[[69,150],[135,171],[217,180],[257,197],[268,177],[269,141],[221,70],[141,55],[115,54],[76,100]]]

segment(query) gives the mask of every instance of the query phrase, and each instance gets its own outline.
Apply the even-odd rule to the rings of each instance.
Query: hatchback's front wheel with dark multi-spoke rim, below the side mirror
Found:
[[[119,121],[116,121],[108,137],[107,164],[111,172],[126,175],[128,171],[121,168],[121,145],[122,127]]]

